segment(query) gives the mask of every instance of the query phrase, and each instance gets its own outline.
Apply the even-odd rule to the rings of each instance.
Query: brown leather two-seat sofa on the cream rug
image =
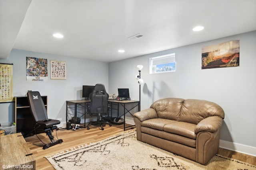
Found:
[[[134,113],[137,140],[200,164],[218,152],[223,109],[206,100],[166,98]]]

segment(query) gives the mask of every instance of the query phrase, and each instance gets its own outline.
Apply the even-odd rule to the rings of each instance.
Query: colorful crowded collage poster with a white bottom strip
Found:
[[[26,63],[27,81],[48,81],[47,59],[26,57]]]

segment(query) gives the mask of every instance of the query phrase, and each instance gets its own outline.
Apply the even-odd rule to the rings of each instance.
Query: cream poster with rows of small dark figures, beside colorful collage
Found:
[[[66,80],[66,62],[51,61],[51,79]]]

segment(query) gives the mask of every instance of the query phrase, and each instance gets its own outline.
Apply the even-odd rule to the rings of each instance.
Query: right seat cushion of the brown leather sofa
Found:
[[[190,139],[196,139],[196,134],[194,133],[196,125],[193,123],[187,123],[183,121],[176,121],[164,125],[164,131],[168,133],[173,133],[176,135],[184,136]]]

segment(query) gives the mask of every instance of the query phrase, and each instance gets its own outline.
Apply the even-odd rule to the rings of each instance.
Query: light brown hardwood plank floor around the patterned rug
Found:
[[[102,131],[100,127],[91,127],[90,130],[87,129],[79,129],[76,131],[60,129],[57,131],[57,135],[59,139],[62,139],[64,142],[62,144],[55,145],[50,147],[49,149],[43,150],[42,142],[36,137],[36,135],[32,137],[26,137],[25,140],[28,144],[28,147],[32,151],[35,159],[36,159],[36,170],[54,170],[53,166],[48,162],[44,156],[48,156],[50,154],[55,154],[57,152],[61,152],[63,150],[67,150],[73,147],[94,143],[97,141],[102,141],[108,137],[112,137],[114,135],[118,135],[124,132],[124,125],[106,125],[104,130]],[[135,131],[135,129],[132,129]],[[56,132],[53,132],[55,139],[57,139]],[[49,143],[49,138],[45,133],[38,134],[38,137],[44,141],[45,143]],[[234,152],[226,149],[219,149],[218,154],[222,156],[226,156],[228,158],[234,158],[243,162],[247,162],[249,164],[256,166],[256,157]]]

